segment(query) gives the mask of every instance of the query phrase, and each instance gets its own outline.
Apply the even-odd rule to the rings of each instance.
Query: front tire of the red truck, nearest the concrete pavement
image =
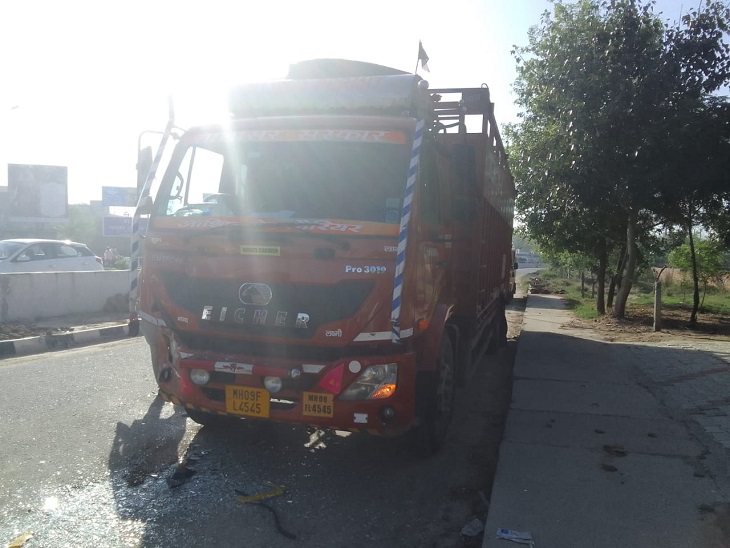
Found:
[[[420,409],[420,423],[413,432],[414,448],[423,456],[433,455],[446,441],[454,412],[456,360],[451,338],[446,333],[441,339],[438,371],[429,385],[426,389],[430,393]]]

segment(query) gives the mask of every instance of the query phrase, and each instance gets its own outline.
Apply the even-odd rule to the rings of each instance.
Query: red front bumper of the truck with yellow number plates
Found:
[[[145,335],[160,395],[188,409],[384,436],[401,435],[416,420],[414,353],[331,361],[231,355],[186,349],[175,343],[171,333],[154,331],[145,330]],[[369,367],[385,364],[397,366],[396,386],[389,396],[343,397]],[[271,385],[281,388],[272,391]],[[249,398],[257,401],[249,405],[244,401]]]

